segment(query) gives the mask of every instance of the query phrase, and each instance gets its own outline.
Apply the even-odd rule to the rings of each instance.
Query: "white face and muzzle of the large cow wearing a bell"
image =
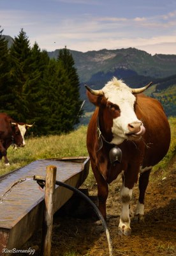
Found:
[[[112,143],[119,145],[125,139],[136,140],[145,132],[143,124],[136,117],[134,104],[136,97],[131,93],[131,88],[117,80],[115,77],[102,89],[108,102],[119,107],[120,115],[113,118]]]

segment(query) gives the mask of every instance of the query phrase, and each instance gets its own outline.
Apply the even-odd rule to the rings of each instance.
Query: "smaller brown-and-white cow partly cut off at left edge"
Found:
[[[33,125],[15,122],[6,113],[0,113],[0,159],[4,156],[4,163],[10,165],[7,158],[7,149],[11,144],[24,147],[26,129]]]

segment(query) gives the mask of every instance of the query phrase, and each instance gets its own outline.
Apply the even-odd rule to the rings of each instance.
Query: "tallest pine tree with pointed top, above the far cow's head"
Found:
[[[26,90],[30,84],[30,61],[31,47],[26,32],[21,29],[19,35],[15,37],[10,49],[11,79],[13,102],[13,118],[26,122],[26,115],[29,114],[26,102]]]

